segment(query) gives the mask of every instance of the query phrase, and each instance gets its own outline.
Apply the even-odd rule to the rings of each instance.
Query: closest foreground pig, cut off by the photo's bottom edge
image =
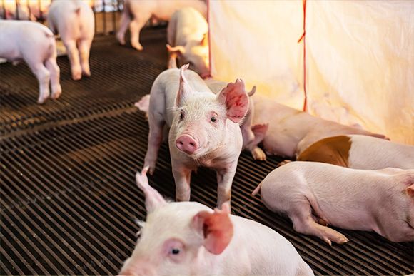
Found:
[[[195,202],[168,203],[137,173],[146,198],[131,257],[120,275],[313,275],[295,247],[271,228]],[[168,227],[166,227],[168,225]]]

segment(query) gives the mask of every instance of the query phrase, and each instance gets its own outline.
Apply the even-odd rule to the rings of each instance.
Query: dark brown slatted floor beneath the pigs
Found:
[[[0,275],[112,275],[131,254],[143,219],[134,174],[143,166],[148,123],[133,106],[166,67],[165,29],[146,30],[141,53],[96,38],[92,77],[71,81],[59,58],[63,94],[36,104],[37,84],[24,63],[0,64]],[[233,213],[288,238],[317,275],[405,275],[414,272],[413,243],[388,242],[371,232],[345,231],[329,247],[293,231],[287,218],[264,208],[253,188],[278,163],[242,153],[233,183]],[[163,144],[150,183],[174,197]],[[192,200],[214,207],[216,177],[201,169]],[[283,252],[281,252],[283,254]]]

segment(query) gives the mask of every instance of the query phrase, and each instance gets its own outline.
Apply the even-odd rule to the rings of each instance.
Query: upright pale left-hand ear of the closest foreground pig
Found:
[[[136,184],[138,188],[143,191],[145,195],[145,207],[146,212],[151,213],[156,208],[161,207],[162,205],[166,204],[166,200],[163,198],[160,193],[157,192],[156,189],[152,188],[148,183],[148,178],[146,177],[146,172],[148,171],[149,166],[143,168],[141,173],[136,173]]]

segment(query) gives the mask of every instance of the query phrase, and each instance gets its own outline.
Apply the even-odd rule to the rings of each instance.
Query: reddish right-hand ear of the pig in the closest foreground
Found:
[[[199,212],[193,218],[193,226],[203,232],[204,247],[215,255],[221,254],[233,237],[229,203],[223,203],[221,210],[215,209],[213,213]]]

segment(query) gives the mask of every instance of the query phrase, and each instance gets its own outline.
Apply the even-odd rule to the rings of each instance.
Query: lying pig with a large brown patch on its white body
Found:
[[[296,160],[362,170],[414,169],[414,146],[371,136],[334,136],[313,143]]]

